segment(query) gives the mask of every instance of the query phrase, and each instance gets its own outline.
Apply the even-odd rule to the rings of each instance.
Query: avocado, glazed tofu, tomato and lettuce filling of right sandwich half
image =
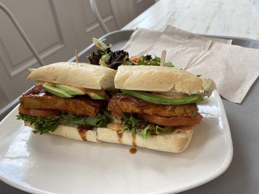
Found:
[[[179,95],[178,98],[167,98],[172,94],[164,93],[160,100],[157,94],[121,91],[109,100],[108,111],[116,120],[107,125],[108,129],[119,133],[129,130],[147,139],[149,135],[171,133],[178,126],[201,123],[202,115],[198,113],[196,102],[202,97]]]

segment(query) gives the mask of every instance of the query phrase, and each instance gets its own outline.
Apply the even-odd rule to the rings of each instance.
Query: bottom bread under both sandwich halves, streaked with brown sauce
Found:
[[[31,127],[30,123],[25,122],[25,126]],[[125,130],[123,133],[110,130],[107,128],[94,128],[92,130],[79,131],[76,126],[58,125],[57,129],[52,132],[54,135],[60,135],[74,140],[90,142],[110,142],[130,146],[146,147],[159,151],[179,153],[184,151],[191,140],[193,126],[178,127],[169,134],[151,135],[143,139],[131,131]]]

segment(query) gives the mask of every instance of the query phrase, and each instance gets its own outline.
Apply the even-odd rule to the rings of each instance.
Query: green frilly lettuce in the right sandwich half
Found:
[[[125,129],[128,129],[144,139],[147,139],[151,134],[158,135],[163,133],[172,133],[175,129],[174,127],[160,126],[147,122],[139,118],[136,114],[123,113],[121,120],[124,125],[121,127],[120,133]]]

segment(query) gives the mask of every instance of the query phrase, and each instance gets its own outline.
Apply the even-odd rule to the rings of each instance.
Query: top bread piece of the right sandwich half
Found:
[[[176,92],[210,96],[216,89],[213,80],[175,67],[121,65],[115,76],[115,88],[154,92]]]

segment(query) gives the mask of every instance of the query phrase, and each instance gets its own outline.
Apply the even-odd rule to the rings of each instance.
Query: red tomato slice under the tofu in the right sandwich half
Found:
[[[149,114],[138,114],[139,117],[146,121],[155,123],[162,126],[187,126],[187,125],[198,125],[202,121],[202,115],[198,114],[197,118],[185,118],[185,117],[163,117]]]

